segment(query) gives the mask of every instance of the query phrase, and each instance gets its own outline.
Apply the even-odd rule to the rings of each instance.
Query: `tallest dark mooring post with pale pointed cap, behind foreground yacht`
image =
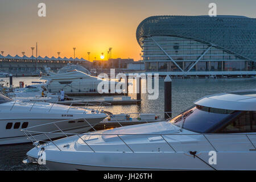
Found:
[[[164,119],[172,117],[172,79],[169,75],[164,79]]]

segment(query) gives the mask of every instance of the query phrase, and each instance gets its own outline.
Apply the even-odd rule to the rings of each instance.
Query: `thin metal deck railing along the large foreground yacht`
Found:
[[[114,137],[117,137],[119,138],[119,140],[122,142],[122,144],[124,144],[125,146],[127,146],[127,148],[129,148],[129,151],[130,152],[137,152],[133,149],[133,146],[131,146],[129,143],[127,143],[125,141],[125,137],[126,136],[140,136],[140,137],[159,137],[157,138],[156,140],[163,140],[164,143],[166,143],[168,145],[168,147],[170,147],[170,151],[165,151],[165,152],[178,152],[176,149],[175,149],[175,146],[171,144],[171,142],[168,142],[168,139],[167,137],[170,137],[170,136],[187,136],[187,137],[191,137],[191,136],[201,136],[201,137],[204,137],[205,138],[205,142],[208,142],[210,144],[210,146],[212,146],[213,150],[218,152],[217,148],[214,146],[214,144],[212,142],[210,142],[210,139],[209,139],[209,136],[211,135],[226,135],[226,136],[233,136],[233,135],[239,135],[239,136],[244,136],[247,138],[247,142],[249,142],[251,144],[251,146],[253,146],[253,148],[250,149],[250,151],[256,151],[256,147],[255,147],[255,144],[251,141],[250,137],[251,136],[256,136],[256,134],[241,134],[241,133],[232,133],[232,134],[226,134],[226,133],[220,133],[220,134],[216,134],[216,133],[209,133],[209,134],[200,134],[200,133],[191,133],[191,134],[182,134],[180,133],[178,130],[177,132],[175,133],[171,133],[171,134],[146,134],[146,133],[143,133],[143,134],[131,134],[131,133],[110,133],[110,134],[104,134],[102,133],[101,131],[96,131],[94,129],[94,127],[92,125],[90,125],[90,123],[88,121],[86,121],[86,119],[84,119],[84,121],[86,121],[86,123],[88,123],[88,125],[90,127],[92,127],[92,129],[96,132],[94,133],[67,133],[65,132],[63,129],[60,128],[59,126],[59,123],[61,122],[68,122],[68,121],[72,121],[72,119],[68,119],[68,120],[64,120],[64,121],[57,121],[57,122],[52,122],[52,123],[46,123],[46,124],[43,124],[43,125],[38,125],[38,126],[32,126],[32,127],[28,127],[27,129],[22,129],[21,131],[23,131],[23,133],[27,136],[27,139],[28,140],[31,140],[31,142],[36,146],[36,147],[40,147],[40,143],[39,142],[43,142],[44,144],[49,144],[49,143],[52,143],[59,151],[61,151],[61,148],[63,148],[63,143],[61,144],[58,144],[57,140],[52,140],[50,137],[50,135],[58,135],[58,137],[60,135],[62,135],[63,137],[71,137],[71,136],[77,136],[78,138],[77,139],[81,139],[81,141],[90,148],[90,151],[86,151],[86,152],[98,152],[96,151],[96,149],[93,149],[93,143],[89,143],[88,140],[89,139],[85,139],[86,137],[92,137],[92,136],[101,136],[101,137],[104,137],[104,136],[114,136]],[[165,122],[168,122],[168,121],[165,121]],[[44,125],[54,125],[57,130],[54,130],[54,131],[49,131],[49,132],[42,132],[42,131],[35,131],[33,130],[35,127],[42,127]],[[42,137],[42,135],[45,136],[46,139],[39,139],[39,137]],[[48,140],[47,140],[48,139]],[[77,140],[73,140],[73,141],[76,141],[76,142],[73,142],[73,143],[78,143]],[[43,144],[42,143],[42,144]],[[72,142],[69,142],[68,144],[71,144]],[[104,151],[99,151],[99,152],[104,152]],[[109,151],[106,151],[106,152],[109,152]],[[147,152],[151,152],[151,151],[147,151]],[[159,151],[160,152],[160,151]]]

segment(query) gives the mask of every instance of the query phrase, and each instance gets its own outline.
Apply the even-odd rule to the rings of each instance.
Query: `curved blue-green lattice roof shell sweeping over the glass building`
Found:
[[[245,16],[150,16],[136,31],[137,41],[148,36],[196,39],[256,61],[256,18]]]

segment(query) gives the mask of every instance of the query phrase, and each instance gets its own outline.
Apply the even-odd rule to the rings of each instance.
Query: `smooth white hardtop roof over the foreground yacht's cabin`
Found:
[[[256,111],[256,89],[205,96],[194,103],[218,109]]]

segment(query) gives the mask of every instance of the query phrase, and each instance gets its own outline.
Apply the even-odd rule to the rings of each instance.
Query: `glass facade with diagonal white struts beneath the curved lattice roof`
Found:
[[[210,44],[174,36],[145,38],[142,57],[147,71],[255,71],[253,61]]]

